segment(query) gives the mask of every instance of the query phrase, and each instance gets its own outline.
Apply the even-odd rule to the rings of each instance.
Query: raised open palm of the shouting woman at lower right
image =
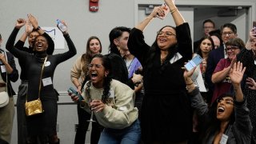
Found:
[[[233,85],[240,85],[246,67],[242,68],[242,62],[234,62],[234,66],[230,70],[230,80]]]

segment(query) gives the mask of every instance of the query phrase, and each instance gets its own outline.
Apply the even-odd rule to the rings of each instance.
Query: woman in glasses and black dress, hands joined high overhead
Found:
[[[190,26],[173,0],[164,2],[176,26],[163,26],[153,45],[147,45],[143,30],[158,15],[164,15],[162,6],[155,6],[130,31],[128,48],[143,67],[142,141],[183,144],[188,142],[192,131],[190,98],[186,95],[182,70],[184,63],[192,58]]]

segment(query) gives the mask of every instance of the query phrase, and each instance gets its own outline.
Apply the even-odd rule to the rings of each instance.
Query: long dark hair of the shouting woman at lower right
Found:
[[[225,98],[225,97],[231,97],[234,98],[234,94],[222,94],[218,98]],[[217,118],[217,109],[218,109],[218,102],[215,101],[209,108],[208,114],[205,118],[199,118],[199,123],[202,123],[202,125],[199,126],[200,131],[200,141],[202,142],[202,139],[207,139],[210,137],[210,135],[215,134],[217,131],[220,130],[221,121]],[[228,126],[226,126],[226,130],[228,127],[235,122],[235,112],[233,110],[233,113],[230,116],[230,122]]]

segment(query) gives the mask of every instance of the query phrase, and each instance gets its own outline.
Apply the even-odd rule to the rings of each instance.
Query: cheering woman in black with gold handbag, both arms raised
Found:
[[[30,15],[30,17],[33,17]],[[20,21],[16,22],[17,27]],[[40,27],[38,27],[40,29]],[[34,116],[26,117],[27,124],[27,143],[41,143],[49,142],[51,144],[59,143],[57,137],[57,95],[53,86],[54,70],[59,63],[66,61],[73,57],[77,51],[74,43],[70,39],[67,31],[63,32],[66,39],[69,51],[63,54],[48,55],[46,50],[49,43],[44,35],[38,35],[34,42],[34,54],[29,54],[25,51],[14,48],[14,41],[18,34],[17,28],[14,28],[6,42],[6,49],[14,54],[24,66],[26,66],[26,73],[28,77],[28,92],[26,94],[27,101],[40,99],[42,101],[42,108],[44,112]],[[42,76],[41,76],[42,75]]]

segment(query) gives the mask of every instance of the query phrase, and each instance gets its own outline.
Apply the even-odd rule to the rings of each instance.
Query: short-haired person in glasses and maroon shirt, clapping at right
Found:
[[[226,42],[226,54],[227,58],[222,58],[212,75],[211,81],[214,83],[214,94],[211,103],[216,101],[219,95],[231,92],[230,70],[236,61],[236,55],[246,45],[240,38],[231,38]]]

